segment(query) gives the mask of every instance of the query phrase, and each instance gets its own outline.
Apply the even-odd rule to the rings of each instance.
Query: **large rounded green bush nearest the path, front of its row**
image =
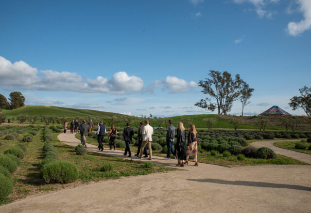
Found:
[[[70,183],[79,178],[78,168],[67,161],[54,161],[45,164],[41,173],[46,183]]]

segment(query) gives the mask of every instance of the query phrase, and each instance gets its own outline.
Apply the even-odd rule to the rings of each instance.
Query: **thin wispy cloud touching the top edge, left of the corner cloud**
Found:
[[[259,16],[259,18],[272,18],[273,15],[275,15],[277,12],[276,11],[267,11],[265,10],[265,6],[268,3],[277,3],[279,0],[233,0],[233,2],[237,3],[237,4],[241,4],[241,3],[251,3],[254,5],[255,9],[254,11],[256,11],[257,15]]]

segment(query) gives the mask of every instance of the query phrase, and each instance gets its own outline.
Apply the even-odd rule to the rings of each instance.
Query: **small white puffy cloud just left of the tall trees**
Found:
[[[163,87],[163,90],[168,90],[170,93],[184,93],[198,87],[198,84],[194,81],[187,82],[175,76],[167,76],[165,80],[156,80],[153,86],[155,88]]]

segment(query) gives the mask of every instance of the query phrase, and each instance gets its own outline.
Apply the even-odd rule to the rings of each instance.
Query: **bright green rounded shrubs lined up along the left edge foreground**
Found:
[[[13,192],[12,175],[25,156],[26,146],[17,144],[11,146],[0,155],[0,199],[6,198]]]

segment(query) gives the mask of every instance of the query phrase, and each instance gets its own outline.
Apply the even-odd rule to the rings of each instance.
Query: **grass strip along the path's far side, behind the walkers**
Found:
[[[156,130],[155,130],[156,131]],[[80,134],[76,134],[75,137],[77,139],[80,139]],[[258,140],[257,140],[258,141]],[[92,138],[92,137],[87,137],[86,142],[93,144],[93,145],[98,145],[97,139]],[[104,143],[104,148],[109,149],[109,144]],[[125,150],[125,148],[117,148],[119,150]],[[132,152],[132,155],[137,153],[138,147],[135,146],[134,144],[130,144],[130,149]],[[166,157],[166,153],[162,153],[161,151],[152,151],[152,154],[155,156],[161,156],[161,157]],[[173,155],[171,155],[171,158],[173,159]],[[192,157],[190,157],[190,160],[193,160]],[[177,162],[177,161],[176,161]],[[275,164],[275,165],[289,165],[289,164],[295,164],[295,165],[308,165],[304,162],[295,160],[293,158],[283,156],[283,155],[278,155],[276,159],[255,159],[255,158],[247,158],[245,157],[244,160],[238,160],[237,156],[231,155],[230,157],[223,157],[223,155],[219,152],[215,156],[212,156],[210,152],[208,151],[202,151],[198,153],[198,162],[200,163],[207,163],[207,164],[216,164],[216,165],[221,165],[221,166],[228,166],[228,167],[233,167],[233,166],[247,166],[247,165],[265,165],[265,164]]]

